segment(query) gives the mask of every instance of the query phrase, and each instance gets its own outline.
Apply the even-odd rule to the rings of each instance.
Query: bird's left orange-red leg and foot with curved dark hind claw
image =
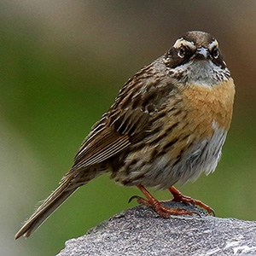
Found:
[[[131,197],[130,201],[133,199],[137,199],[137,202],[139,204],[148,206],[148,207],[152,207],[154,209],[154,211],[157,212],[163,218],[170,218],[171,215],[183,215],[183,214],[192,215],[194,213],[198,214],[197,212],[187,211],[187,210],[184,210],[184,209],[178,208],[178,207],[175,207],[175,208],[164,207],[160,204],[160,201],[157,201],[154,198],[154,196],[151,195],[148,192],[148,190],[144,188],[143,185],[140,184],[137,186],[137,188],[143,192],[143,194],[146,196],[147,200],[143,199],[140,196],[135,195],[135,196]]]

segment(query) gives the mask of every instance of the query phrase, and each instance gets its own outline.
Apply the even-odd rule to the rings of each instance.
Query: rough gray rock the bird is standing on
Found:
[[[66,242],[57,256],[82,255],[256,255],[256,222],[208,216],[160,218],[149,207],[134,207]]]

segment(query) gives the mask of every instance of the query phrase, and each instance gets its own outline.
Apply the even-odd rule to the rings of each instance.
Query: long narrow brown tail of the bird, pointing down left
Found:
[[[15,235],[15,239],[18,239],[22,235],[26,237],[30,236],[32,232],[37,230],[38,227],[43,224],[44,220],[48,218],[52,212],[55,212],[55,210],[77,189],[79,189],[79,185],[75,186],[74,184],[71,184],[70,181],[64,180],[41,204],[41,206],[38,207],[36,212],[28,218],[26,223]]]

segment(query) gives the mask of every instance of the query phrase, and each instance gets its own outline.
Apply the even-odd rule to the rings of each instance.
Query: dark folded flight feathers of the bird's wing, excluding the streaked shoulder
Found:
[[[126,108],[122,113],[108,113],[90,132],[75,157],[71,172],[91,166],[119,154],[143,137],[148,126],[148,113],[139,109]]]

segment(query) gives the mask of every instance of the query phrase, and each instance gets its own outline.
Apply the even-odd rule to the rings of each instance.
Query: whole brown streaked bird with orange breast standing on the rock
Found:
[[[164,55],[135,73],[113,105],[93,125],[73,166],[15,235],[30,236],[79,187],[102,173],[136,186],[160,217],[193,212],[165,207],[148,188],[169,189],[172,201],[211,207],[173,185],[214,172],[233,112],[234,80],[218,41],[207,32],[186,32]]]

